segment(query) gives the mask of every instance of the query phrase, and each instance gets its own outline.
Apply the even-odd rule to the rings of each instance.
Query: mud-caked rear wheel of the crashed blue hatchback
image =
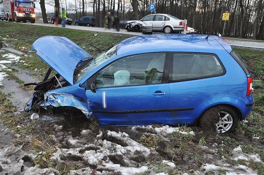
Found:
[[[238,123],[237,112],[228,106],[218,105],[207,109],[199,119],[199,126],[217,133],[231,132]]]

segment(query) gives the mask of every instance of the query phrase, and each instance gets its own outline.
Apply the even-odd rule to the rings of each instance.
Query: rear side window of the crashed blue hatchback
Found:
[[[225,74],[225,69],[216,55],[173,54],[169,81],[202,79]]]

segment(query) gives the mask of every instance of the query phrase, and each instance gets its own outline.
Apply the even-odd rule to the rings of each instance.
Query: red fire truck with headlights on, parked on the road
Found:
[[[19,23],[23,21],[26,23],[30,21],[35,23],[35,3],[31,0],[6,0],[3,1],[4,11],[7,15],[7,20],[9,22],[15,21]]]

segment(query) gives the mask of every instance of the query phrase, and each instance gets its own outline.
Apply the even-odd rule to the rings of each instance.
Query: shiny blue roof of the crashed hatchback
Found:
[[[117,55],[132,55],[148,52],[203,52],[214,53],[214,50],[231,52],[231,46],[221,37],[195,34],[152,34],[140,35],[121,41]],[[133,49],[131,49],[133,48]]]

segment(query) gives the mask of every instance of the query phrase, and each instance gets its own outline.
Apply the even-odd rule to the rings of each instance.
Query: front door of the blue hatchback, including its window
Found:
[[[164,71],[166,53],[146,53],[120,58],[100,70],[96,93],[86,90],[91,111],[106,125],[163,124],[169,104],[169,84]],[[153,71],[155,70],[155,71]]]

